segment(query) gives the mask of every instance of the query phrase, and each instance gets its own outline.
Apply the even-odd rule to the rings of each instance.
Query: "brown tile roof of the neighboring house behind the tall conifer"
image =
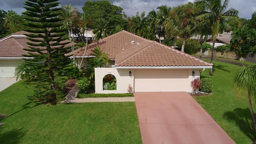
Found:
[[[20,31],[2,38],[2,41],[0,41],[0,58],[24,58],[22,54],[28,54],[28,51],[23,49],[29,49],[27,42],[31,41],[23,34],[30,33]],[[65,42],[69,42],[69,40],[62,41],[61,43]],[[66,44],[66,46],[70,46],[70,44]],[[37,48],[43,47],[38,46]]]

